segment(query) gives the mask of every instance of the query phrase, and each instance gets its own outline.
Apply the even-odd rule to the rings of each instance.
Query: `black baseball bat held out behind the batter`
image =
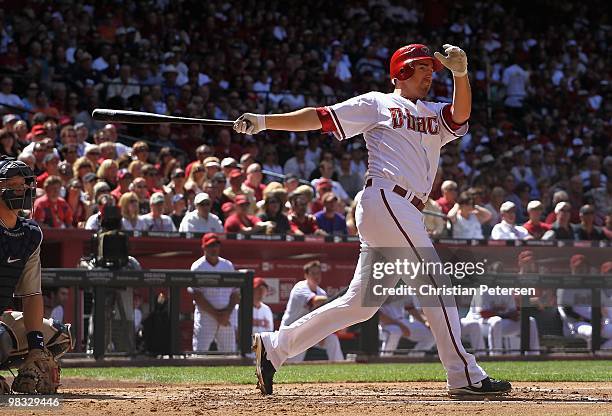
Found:
[[[203,124],[205,126],[232,127],[232,120],[212,120],[208,118],[176,117],[162,114],[146,113],[144,111],[112,110],[96,108],[91,117],[96,121],[126,124]]]

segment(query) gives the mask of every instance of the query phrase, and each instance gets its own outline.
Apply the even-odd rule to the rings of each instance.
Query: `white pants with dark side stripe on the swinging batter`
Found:
[[[437,259],[423,216],[408,200],[412,193],[402,198],[391,191],[393,186],[395,184],[391,181],[375,179],[373,186],[361,194],[356,221],[362,249],[347,292],[290,326],[262,333],[268,359],[276,369],[287,358],[296,356],[342,328],[369,319],[380,308],[385,300],[383,296],[376,298],[377,306],[364,306],[363,303],[366,295],[371,298],[368,291],[371,291],[373,259],[369,247],[401,248],[405,258],[413,261]],[[428,275],[426,278],[430,279],[432,286],[450,286],[447,276]],[[454,297],[438,296],[436,305],[428,303],[431,303],[429,298],[420,301],[446,369],[448,387],[464,387],[484,379],[486,373],[461,344],[461,324]]]

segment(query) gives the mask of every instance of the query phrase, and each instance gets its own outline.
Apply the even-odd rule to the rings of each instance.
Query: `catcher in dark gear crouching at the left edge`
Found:
[[[68,326],[43,319],[40,227],[17,215],[32,209],[35,192],[32,169],[21,161],[0,157],[0,311],[13,297],[21,299],[23,309],[0,317],[0,368],[23,361],[12,387],[0,376],[0,394],[56,393],[60,381],[56,357],[72,346]],[[45,341],[51,351],[45,348]]]

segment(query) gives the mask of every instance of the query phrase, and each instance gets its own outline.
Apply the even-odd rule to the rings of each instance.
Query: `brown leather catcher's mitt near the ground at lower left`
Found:
[[[60,368],[47,350],[32,349],[19,367],[13,391],[27,394],[54,394],[60,385]]]

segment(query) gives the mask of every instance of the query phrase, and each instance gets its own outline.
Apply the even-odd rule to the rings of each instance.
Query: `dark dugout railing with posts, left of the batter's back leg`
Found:
[[[180,289],[185,287],[232,287],[240,289],[240,307],[238,311],[238,348],[242,356],[251,350],[251,333],[253,330],[253,271],[236,272],[192,272],[186,270],[85,270],[85,269],[43,269],[43,287],[66,286],[75,289],[93,290],[93,356],[101,359],[106,351],[107,333],[105,298],[108,291],[126,287],[167,287],[170,320],[170,355],[181,355],[179,340]],[[75,314],[83,310],[81,296],[74,297]],[[73,322],[73,331],[77,342],[84,335],[82,317],[77,316]]]

